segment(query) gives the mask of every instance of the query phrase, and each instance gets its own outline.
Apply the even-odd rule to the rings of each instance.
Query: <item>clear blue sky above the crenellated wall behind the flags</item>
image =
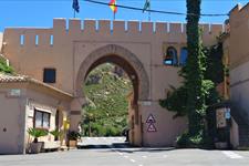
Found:
[[[110,2],[110,0],[98,0]],[[143,8],[145,0],[117,0],[118,4]],[[186,12],[185,0],[151,0],[152,9]],[[237,3],[248,0],[203,0],[201,13],[228,13]],[[80,13],[83,19],[113,19],[108,7],[80,0]],[[72,0],[0,0],[0,31],[6,27],[52,27],[53,18],[73,18]],[[222,23],[228,17],[203,17],[201,22]],[[147,13],[118,9],[116,20],[146,21]],[[152,21],[185,22],[184,15],[152,13]]]

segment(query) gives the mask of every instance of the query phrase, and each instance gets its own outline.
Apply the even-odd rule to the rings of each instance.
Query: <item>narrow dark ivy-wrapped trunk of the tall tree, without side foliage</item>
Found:
[[[181,71],[187,87],[186,111],[190,136],[201,134],[200,132],[204,129],[203,117],[206,112],[204,93],[205,55],[199,29],[200,3],[201,0],[187,0],[188,59]]]

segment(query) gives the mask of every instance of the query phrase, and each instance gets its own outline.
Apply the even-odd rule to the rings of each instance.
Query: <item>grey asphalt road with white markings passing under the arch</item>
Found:
[[[123,137],[84,137],[81,149],[1,155],[0,166],[249,166],[247,151],[133,148]]]

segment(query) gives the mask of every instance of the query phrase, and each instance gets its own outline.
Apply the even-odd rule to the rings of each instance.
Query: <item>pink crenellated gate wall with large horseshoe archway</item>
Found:
[[[204,43],[212,44],[222,25],[203,24]],[[136,145],[173,145],[175,137],[186,127],[184,118],[158,105],[169,85],[179,85],[178,68],[165,66],[166,45],[177,52],[186,45],[185,25],[136,21],[107,21],[54,19],[53,28],[7,28],[1,52],[15,71],[43,81],[44,69],[56,71],[55,83],[50,85],[74,95],[69,111],[71,127],[76,128],[84,104],[82,82],[87,73],[103,62],[113,62],[134,77],[137,96]],[[156,129],[147,118],[153,115]]]

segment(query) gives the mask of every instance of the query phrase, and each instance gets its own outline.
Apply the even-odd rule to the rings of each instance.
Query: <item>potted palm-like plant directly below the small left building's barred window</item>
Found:
[[[46,136],[49,134],[48,131],[41,128],[29,128],[29,135],[31,135],[34,139],[30,143],[30,151],[32,154],[38,154],[41,152],[42,142],[38,142],[39,137]]]

